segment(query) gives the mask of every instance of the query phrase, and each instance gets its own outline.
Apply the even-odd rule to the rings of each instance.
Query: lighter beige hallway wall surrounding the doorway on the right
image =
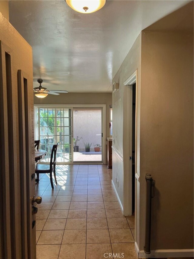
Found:
[[[115,77],[113,78],[113,82],[119,83],[119,90],[112,94],[112,108],[113,108],[113,133],[112,136],[115,138],[115,144],[113,147],[115,148],[112,150],[112,179],[115,189],[119,195],[119,199],[122,203],[122,206],[125,204],[126,197],[123,194],[123,183],[124,183],[124,172],[123,172],[123,165],[127,161],[123,160],[123,156],[125,155],[125,150],[123,149],[123,143],[126,139],[123,138],[123,125],[126,123],[127,118],[123,117],[124,109],[126,109],[125,105],[125,97],[129,90],[129,87],[124,86],[124,82],[127,78],[129,78],[132,73],[137,70],[138,72],[138,83],[136,86],[136,93],[138,97],[138,107],[137,113],[140,112],[140,87],[141,87],[141,34],[136,39],[135,43],[133,44],[132,48],[130,49],[128,55],[126,56],[125,60],[123,61],[119,71],[116,73]],[[139,116],[137,120],[137,136],[139,140]],[[119,156],[119,155],[120,156]],[[137,154],[139,157],[139,141],[137,142]],[[137,173],[139,174],[139,159],[137,163]],[[115,184],[115,178],[119,181],[119,187]],[[137,183],[139,184],[139,182]],[[138,187],[139,188],[139,187]],[[137,202],[139,202],[139,196],[137,197]],[[125,206],[124,206],[125,210]],[[139,210],[136,213],[137,221],[139,221]],[[139,240],[139,224],[137,225],[136,231],[136,240]],[[138,241],[139,243],[139,241]]]

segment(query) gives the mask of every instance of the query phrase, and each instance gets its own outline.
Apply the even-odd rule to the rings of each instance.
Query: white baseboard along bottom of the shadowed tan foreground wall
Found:
[[[150,254],[146,254],[144,250],[139,250],[137,242],[135,242],[135,251],[138,258],[193,257],[194,255],[194,249],[151,250]]]

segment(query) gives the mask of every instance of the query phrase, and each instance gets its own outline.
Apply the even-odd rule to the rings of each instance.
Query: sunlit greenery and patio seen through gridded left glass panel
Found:
[[[56,162],[72,161],[72,110],[69,108],[39,108],[36,109],[38,124],[39,149],[47,154],[41,162],[50,162],[52,146],[59,143]]]

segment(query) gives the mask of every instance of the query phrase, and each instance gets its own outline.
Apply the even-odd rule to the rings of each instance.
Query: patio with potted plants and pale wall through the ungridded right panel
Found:
[[[102,162],[102,108],[73,108],[73,162]]]

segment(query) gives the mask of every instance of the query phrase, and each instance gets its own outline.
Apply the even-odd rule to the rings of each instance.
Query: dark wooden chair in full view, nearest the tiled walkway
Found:
[[[37,175],[37,182],[39,182],[39,174],[49,173],[52,189],[54,189],[53,181],[52,181],[52,172],[54,174],[55,182],[57,184],[57,179],[56,179],[56,174],[55,174],[55,163],[56,163],[56,154],[57,154],[58,146],[59,146],[59,144],[57,143],[56,145],[53,145],[53,147],[52,147],[50,165],[37,164],[35,167],[35,173]]]

